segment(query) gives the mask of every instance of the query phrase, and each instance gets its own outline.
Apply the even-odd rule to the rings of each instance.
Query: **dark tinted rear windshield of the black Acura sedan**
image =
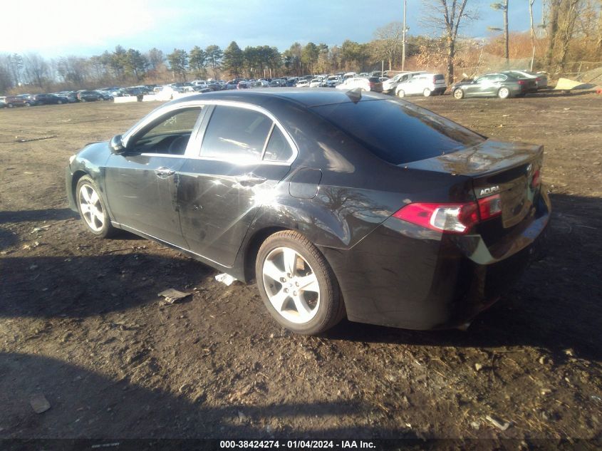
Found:
[[[377,157],[405,163],[436,157],[484,141],[467,128],[399,100],[361,100],[313,107]]]

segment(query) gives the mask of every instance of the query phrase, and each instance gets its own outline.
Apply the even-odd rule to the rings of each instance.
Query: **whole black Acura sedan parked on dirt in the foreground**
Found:
[[[256,281],[276,321],[467,324],[538,254],[541,146],[358,90],[191,95],[66,172],[97,237],[125,229]]]

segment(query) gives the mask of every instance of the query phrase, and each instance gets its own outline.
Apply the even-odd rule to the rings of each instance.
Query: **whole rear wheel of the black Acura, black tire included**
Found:
[[[291,331],[315,335],[343,318],[343,300],[328,261],[299,232],[268,237],[257,253],[255,271],[266,309]]]

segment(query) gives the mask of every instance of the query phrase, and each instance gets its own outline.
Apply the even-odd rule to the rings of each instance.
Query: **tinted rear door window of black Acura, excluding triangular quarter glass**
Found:
[[[259,160],[272,121],[255,110],[217,105],[205,130],[202,157]]]

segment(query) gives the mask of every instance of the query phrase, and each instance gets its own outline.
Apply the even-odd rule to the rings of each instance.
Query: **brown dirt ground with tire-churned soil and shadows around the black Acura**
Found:
[[[412,101],[546,146],[549,254],[466,332],[295,336],[255,286],[66,208],[68,157],[156,103],[0,110],[0,438],[602,440],[602,95]]]

